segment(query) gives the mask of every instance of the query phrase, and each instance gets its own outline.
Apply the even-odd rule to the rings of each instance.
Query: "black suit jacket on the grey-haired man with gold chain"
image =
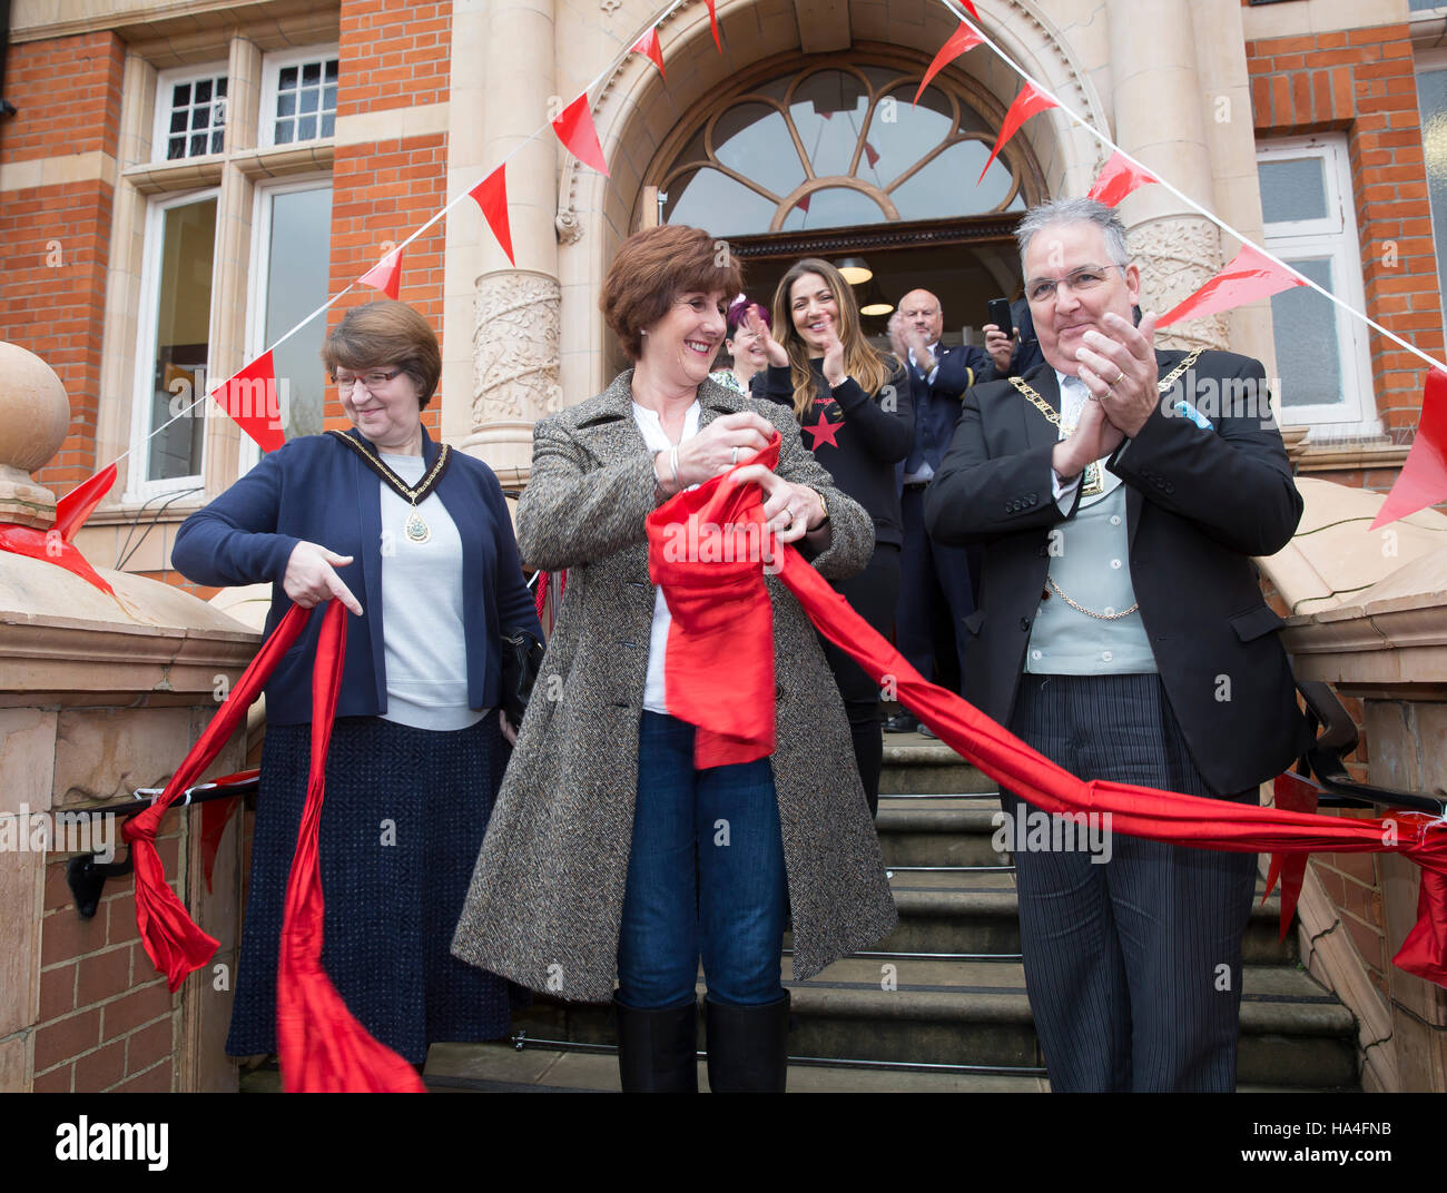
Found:
[[[1165,377],[1182,359],[1156,353]],[[1026,380],[1059,411],[1055,370]],[[1230,385],[1234,382],[1234,386]],[[1130,578],[1166,696],[1213,791],[1285,771],[1307,743],[1295,684],[1253,555],[1279,551],[1302,500],[1275,425],[1233,392],[1266,393],[1260,362],[1202,353],[1106,467],[1126,483]],[[1191,402],[1211,419],[1179,414]],[[925,493],[925,525],[946,544],[984,542],[980,609],[965,619],[965,697],[1009,724],[1049,567],[1049,531],[1072,518],[1052,497],[1056,428],[1009,382],[971,389],[949,454]],[[1087,619],[1081,629],[1090,633]]]

